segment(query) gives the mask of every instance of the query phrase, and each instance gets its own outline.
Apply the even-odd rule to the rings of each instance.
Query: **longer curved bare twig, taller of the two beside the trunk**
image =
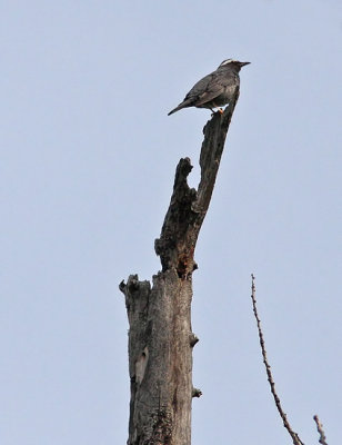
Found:
[[[264,345],[263,334],[262,334],[262,330],[261,330],[261,322],[260,322],[260,318],[259,318],[259,315],[258,315],[258,310],[256,310],[255,284],[254,284],[254,279],[255,278],[254,278],[253,274],[251,274],[251,277],[252,277],[252,295],[251,295],[251,298],[252,298],[252,301],[253,301],[253,313],[254,313],[254,317],[255,317],[256,325],[258,325],[259,340],[260,340],[263,363],[264,363],[264,366],[265,366],[265,369],[266,369],[266,374],[268,374],[268,380],[269,380],[269,384],[270,384],[270,387],[271,387],[271,393],[273,395],[273,398],[274,398],[274,402],[275,402],[275,406],[276,406],[276,409],[278,409],[278,412],[280,414],[280,417],[283,421],[283,425],[288,429],[290,436],[292,437],[293,444],[294,445],[304,445],[303,442],[300,439],[299,435],[296,433],[294,433],[294,431],[291,428],[291,425],[289,424],[289,421],[286,418],[286,414],[283,412],[283,408],[282,408],[281,403],[280,403],[280,398],[278,397],[278,394],[275,392],[275,385],[274,385],[273,376],[272,376],[272,373],[271,373],[271,366],[269,365],[269,362],[268,362],[266,349],[265,349],[265,345]]]

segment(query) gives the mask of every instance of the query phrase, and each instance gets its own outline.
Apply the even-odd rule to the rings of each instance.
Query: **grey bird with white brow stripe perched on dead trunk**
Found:
[[[168,116],[188,107],[209,108],[212,112],[214,112],[213,108],[219,108],[219,111],[223,112],[220,107],[230,102],[235,88],[240,86],[239,71],[249,63],[232,59],[223,60],[215,71],[199,80],[184,100]]]

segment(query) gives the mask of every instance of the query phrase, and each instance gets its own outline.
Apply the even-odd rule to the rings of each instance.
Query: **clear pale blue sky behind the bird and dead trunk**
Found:
[[[341,0],[3,1],[1,445],[128,436],[118,284],[150,279],[181,157],[210,111],[168,117],[222,60],[250,61],[193,275],[193,444],[291,443],[285,412],[342,426]]]

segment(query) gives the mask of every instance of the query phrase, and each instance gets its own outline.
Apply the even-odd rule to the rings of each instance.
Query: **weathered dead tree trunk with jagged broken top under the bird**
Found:
[[[181,159],[161,236],[155,240],[162,271],[153,285],[131,275],[120,284],[129,318],[131,402],[128,445],[190,445],[192,386],[191,329],[194,248],[213,191],[227,131],[239,98],[203,129],[201,181],[190,188],[192,166]]]

